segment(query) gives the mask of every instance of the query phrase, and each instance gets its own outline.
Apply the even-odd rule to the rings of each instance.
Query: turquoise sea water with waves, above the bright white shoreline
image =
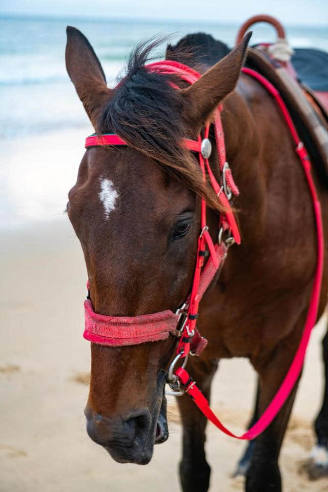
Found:
[[[103,64],[108,85],[124,67],[135,44],[155,34],[172,41],[190,33],[208,32],[233,46],[238,25],[147,20],[88,20],[83,18],[0,17],[0,134],[26,136],[56,129],[81,127],[87,117],[81,109],[65,69],[67,25],[80,29]],[[294,47],[328,51],[328,29],[286,28]],[[252,43],[273,40],[269,26],[258,25]],[[163,56],[165,45],[157,55]]]

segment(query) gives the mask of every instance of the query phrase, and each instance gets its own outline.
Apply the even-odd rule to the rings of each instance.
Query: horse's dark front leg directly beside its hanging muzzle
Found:
[[[190,372],[197,386],[210,399],[213,376],[217,362],[194,358]],[[180,461],[180,483],[183,492],[207,492],[210,485],[211,468],[206,461],[204,443],[207,418],[199,411],[188,395],[178,397],[182,420],[182,459]]]

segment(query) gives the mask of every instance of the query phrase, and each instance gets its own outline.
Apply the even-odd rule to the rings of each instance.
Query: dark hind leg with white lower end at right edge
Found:
[[[328,475],[328,332],[322,341],[324,364],[324,396],[315,420],[317,443],[312,449],[308,473],[311,479]]]

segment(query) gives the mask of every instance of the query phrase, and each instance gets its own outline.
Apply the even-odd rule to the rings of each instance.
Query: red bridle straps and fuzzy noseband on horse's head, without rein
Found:
[[[198,72],[176,61],[159,61],[148,65],[147,69],[152,72],[177,74],[189,84],[193,84],[200,78]],[[239,192],[234,183],[228,162],[226,162],[226,148],[224,146],[219,108],[215,111],[214,132],[219,156],[219,169],[221,171],[221,185],[217,182],[208,160],[211,154],[211,142],[208,138],[209,130],[210,124],[208,122],[204,129],[203,138],[198,135],[197,140],[185,138],[181,142],[181,145],[185,145],[190,151],[198,153],[203,180],[206,180],[206,175],[208,174],[218,201],[226,210],[220,217],[219,239],[218,243],[214,245],[206,222],[206,202],[203,199],[201,200],[201,229],[198,237],[196,267],[191,294],[183,306],[177,309],[176,313],[162,311],[133,317],[97,314],[93,311],[91,301],[87,300],[85,302],[86,329],[84,332],[84,337],[87,340],[109,346],[135,345],[163,340],[168,338],[171,333],[180,337],[177,353],[181,353],[182,357],[187,356],[190,350],[199,353],[206,346],[206,340],[201,338],[196,330],[198,304],[226,257],[229,246],[233,242],[240,243],[237,223],[230,206],[232,194],[238,195]],[[86,139],[87,149],[97,146],[124,145],[127,145],[127,142],[115,134],[91,135]],[[222,242],[223,234],[229,236],[228,241]],[[209,259],[203,268],[204,259],[207,256],[209,256]]]

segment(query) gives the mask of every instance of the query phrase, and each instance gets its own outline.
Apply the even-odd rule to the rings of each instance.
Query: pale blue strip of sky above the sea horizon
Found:
[[[1,0],[1,14],[211,20],[241,23],[268,13],[286,25],[328,29],[327,0]]]

